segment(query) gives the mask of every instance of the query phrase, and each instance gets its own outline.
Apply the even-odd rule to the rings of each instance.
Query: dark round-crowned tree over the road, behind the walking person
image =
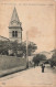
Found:
[[[34,57],[33,57],[33,62],[34,64],[40,64],[40,62],[42,61],[46,61],[46,56],[44,54],[36,54]]]

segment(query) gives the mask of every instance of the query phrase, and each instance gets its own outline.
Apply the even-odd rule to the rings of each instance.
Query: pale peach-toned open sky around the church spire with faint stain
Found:
[[[0,35],[9,37],[9,23],[16,9],[22,22],[23,40],[37,45],[36,52],[52,51],[55,48],[55,6],[52,1],[19,1],[0,2]]]

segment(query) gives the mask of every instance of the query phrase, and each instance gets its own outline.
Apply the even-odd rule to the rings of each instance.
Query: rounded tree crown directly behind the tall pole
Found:
[[[27,45],[27,55],[31,56],[35,51],[37,50],[37,46],[33,42],[29,42]],[[22,43],[22,51],[26,55],[26,42]]]

